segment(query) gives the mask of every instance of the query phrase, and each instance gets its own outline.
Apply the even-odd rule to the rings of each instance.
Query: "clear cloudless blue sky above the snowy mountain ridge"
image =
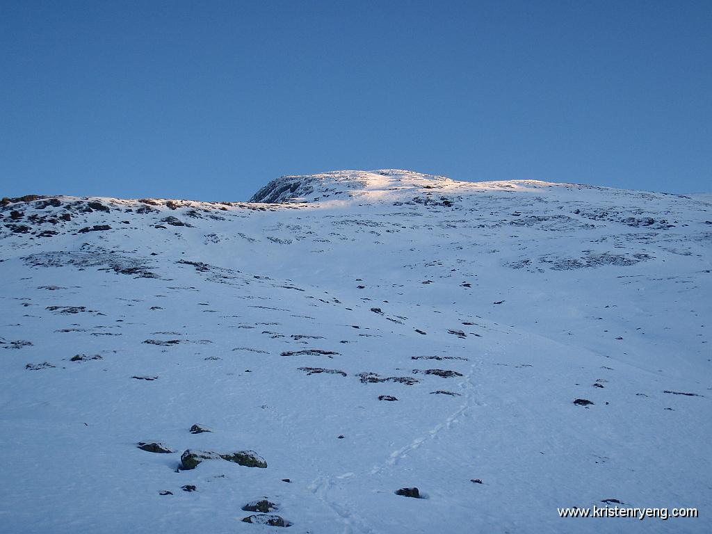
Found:
[[[712,1],[0,0],[0,196],[380,168],[712,191]]]

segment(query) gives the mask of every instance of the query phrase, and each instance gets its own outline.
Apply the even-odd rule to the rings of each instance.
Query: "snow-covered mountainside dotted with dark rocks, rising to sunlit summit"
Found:
[[[3,202],[0,530],[712,531],[709,196],[383,170],[252,201]],[[557,514],[612,498],[700,517]]]

